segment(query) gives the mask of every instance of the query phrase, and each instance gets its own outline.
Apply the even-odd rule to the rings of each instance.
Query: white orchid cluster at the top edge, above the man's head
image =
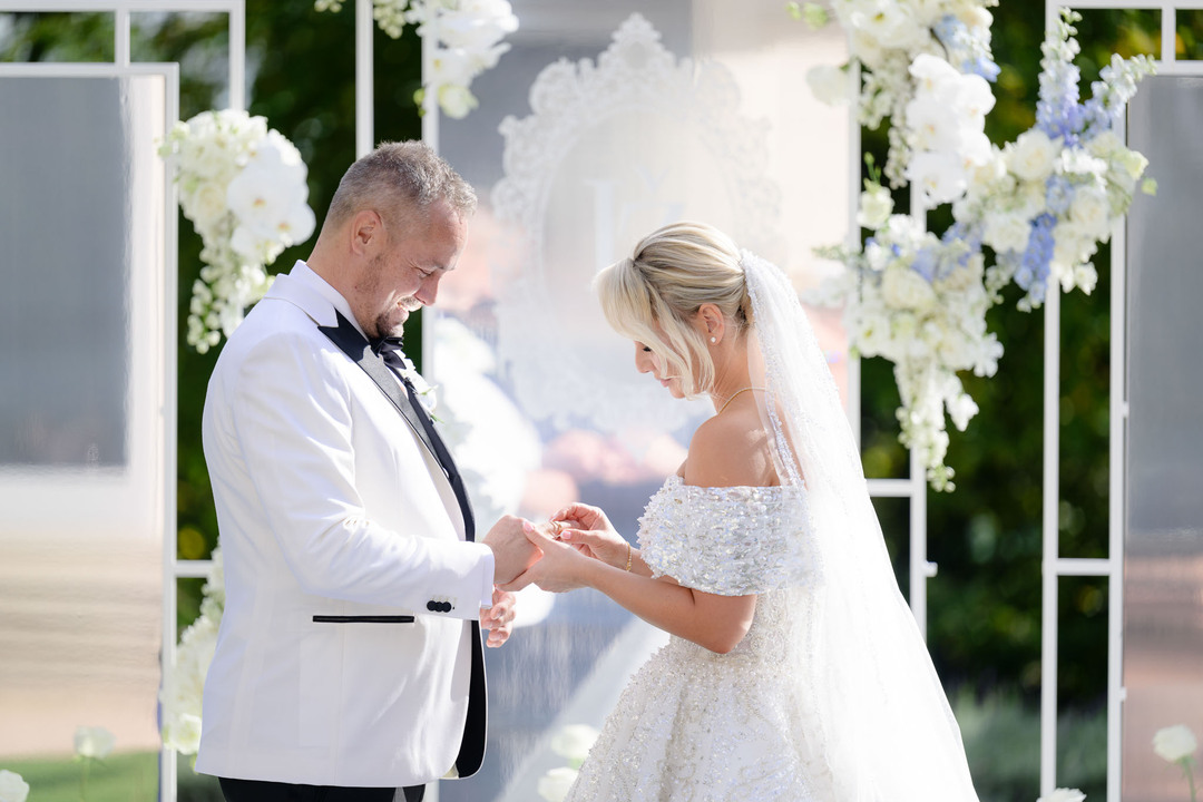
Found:
[[[373,0],[380,30],[398,38],[407,24],[434,42],[422,70],[422,88],[414,100],[419,108],[427,94],[448,117],[462,119],[478,101],[473,79],[497,66],[510,49],[502,40],[518,29],[518,18],[506,0]],[[339,11],[342,0],[316,0],[318,11]]]

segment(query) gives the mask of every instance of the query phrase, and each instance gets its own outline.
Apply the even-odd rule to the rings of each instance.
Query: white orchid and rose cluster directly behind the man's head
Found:
[[[313,233],[308,171],[262,117],[235,109],[177,123],[159,153],[176,164],[180,207],[203,242],[188,343],[205,354],[267,292],[266,266]]]

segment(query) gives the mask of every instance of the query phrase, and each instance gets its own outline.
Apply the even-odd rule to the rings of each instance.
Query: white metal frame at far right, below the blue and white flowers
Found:
[[[1062,8],[1150,10],[1161,12],[1160,75],[1203,75],[1203,61],[1179,61],[1175,36],[1179,10],[1201,11],[1203,0],[1045,0],[1045,26],[1056,23]],[[1124,136],[1124,123],[1118,133]],[[1127,262],[1126,230],[1120,221],[1112,230],[1112,331],[1110,331],[1110,426],[1108,557],[1073,559],[1060,556],[1060,399],[1061,399],[1061,298],[1049,292],[1044,304],[1044,509],[1043,509],[1043,604],[1041,644],[1041,795],[1056,788],[1057,714],[1057,589],[1063,576],[1096,576],[1108,580],[1107,647],[1107,800],[1120,801],[1122,766],[1124,689],[1124,529],[1125,455],[1127,448]]]

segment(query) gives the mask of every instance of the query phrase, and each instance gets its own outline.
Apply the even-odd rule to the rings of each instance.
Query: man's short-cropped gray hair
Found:
[[[326,222],[338,225],[366,208],[391,222],[437,201],[446,201],[460,216],[476,210],[472,185],[425,142],[384,142],[348,168]]]

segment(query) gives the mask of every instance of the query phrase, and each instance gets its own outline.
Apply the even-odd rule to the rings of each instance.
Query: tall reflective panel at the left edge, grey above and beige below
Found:
[[[156,796],[166,93],[0,76],[0,765],[31,798],[78,794],[78,725],[117,739],[97,798]]]

